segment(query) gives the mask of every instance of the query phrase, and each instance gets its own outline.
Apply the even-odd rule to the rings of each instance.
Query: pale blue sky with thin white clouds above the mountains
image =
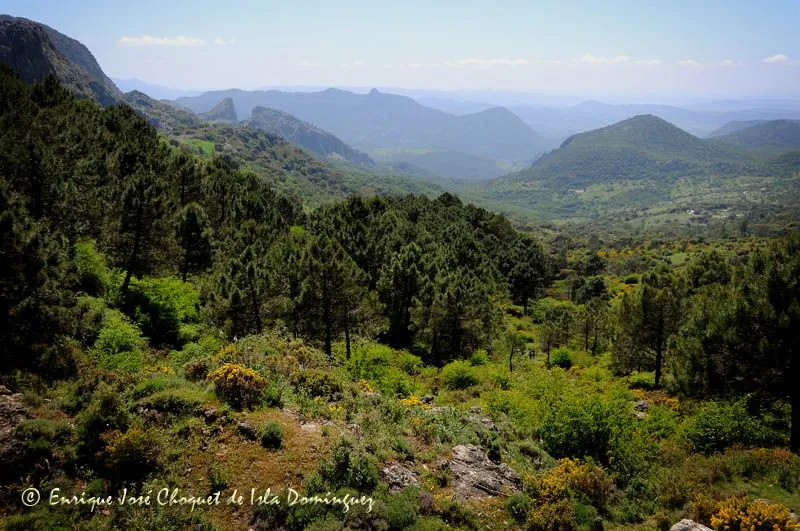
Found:
[[[3,0],[114,78],[174,89],[800,95],[800,2]]]

